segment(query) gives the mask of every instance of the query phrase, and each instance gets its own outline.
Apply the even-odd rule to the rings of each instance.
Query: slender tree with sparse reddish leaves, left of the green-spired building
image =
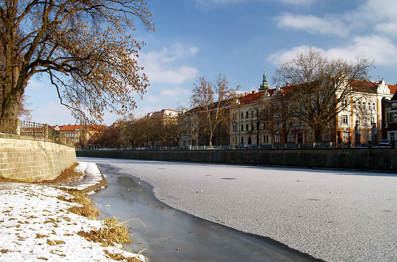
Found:
[[[200,77],[194,84],[191,104],[198,108],[198,126],[208,135],[210,146],[219,126],[229,125],[229,106],[235,103],[238,88],[229,88],[226,77],[221,74],[214,82]]]

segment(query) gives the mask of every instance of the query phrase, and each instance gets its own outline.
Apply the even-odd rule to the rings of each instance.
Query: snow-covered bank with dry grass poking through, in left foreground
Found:
[[[77,235],[103,224],[68,212],[77,204],[57,196],[71,197],[48,186],[0,184],[0,261],[114,261],[105,251],[144,261],[144,256],[117,247],[102,247]]]

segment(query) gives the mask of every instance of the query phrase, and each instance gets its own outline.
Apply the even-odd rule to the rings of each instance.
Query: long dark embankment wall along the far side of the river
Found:
[[[397,148],[76,151],[77,156],[397,171]]]

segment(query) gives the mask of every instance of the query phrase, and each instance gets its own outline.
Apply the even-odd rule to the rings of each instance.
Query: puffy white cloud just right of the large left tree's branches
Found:
[[[199,52],[197,47],[184,47],[176,44],[161,51],[151,51],[139,55],[139,65],[144,67],[150,83],[180,84],[195,78],[199,70],[195,67],[178,65]],[[182,62],[181,62],[182,63]]]

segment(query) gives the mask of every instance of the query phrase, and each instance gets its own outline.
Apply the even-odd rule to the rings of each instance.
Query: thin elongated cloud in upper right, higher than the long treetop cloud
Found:
[[[313,15],[283,13],[276,19],[280,28],[300,29],[312,34],[320,33],[343,36],[348,33],[341,21],[331,17],[319,18]]]

